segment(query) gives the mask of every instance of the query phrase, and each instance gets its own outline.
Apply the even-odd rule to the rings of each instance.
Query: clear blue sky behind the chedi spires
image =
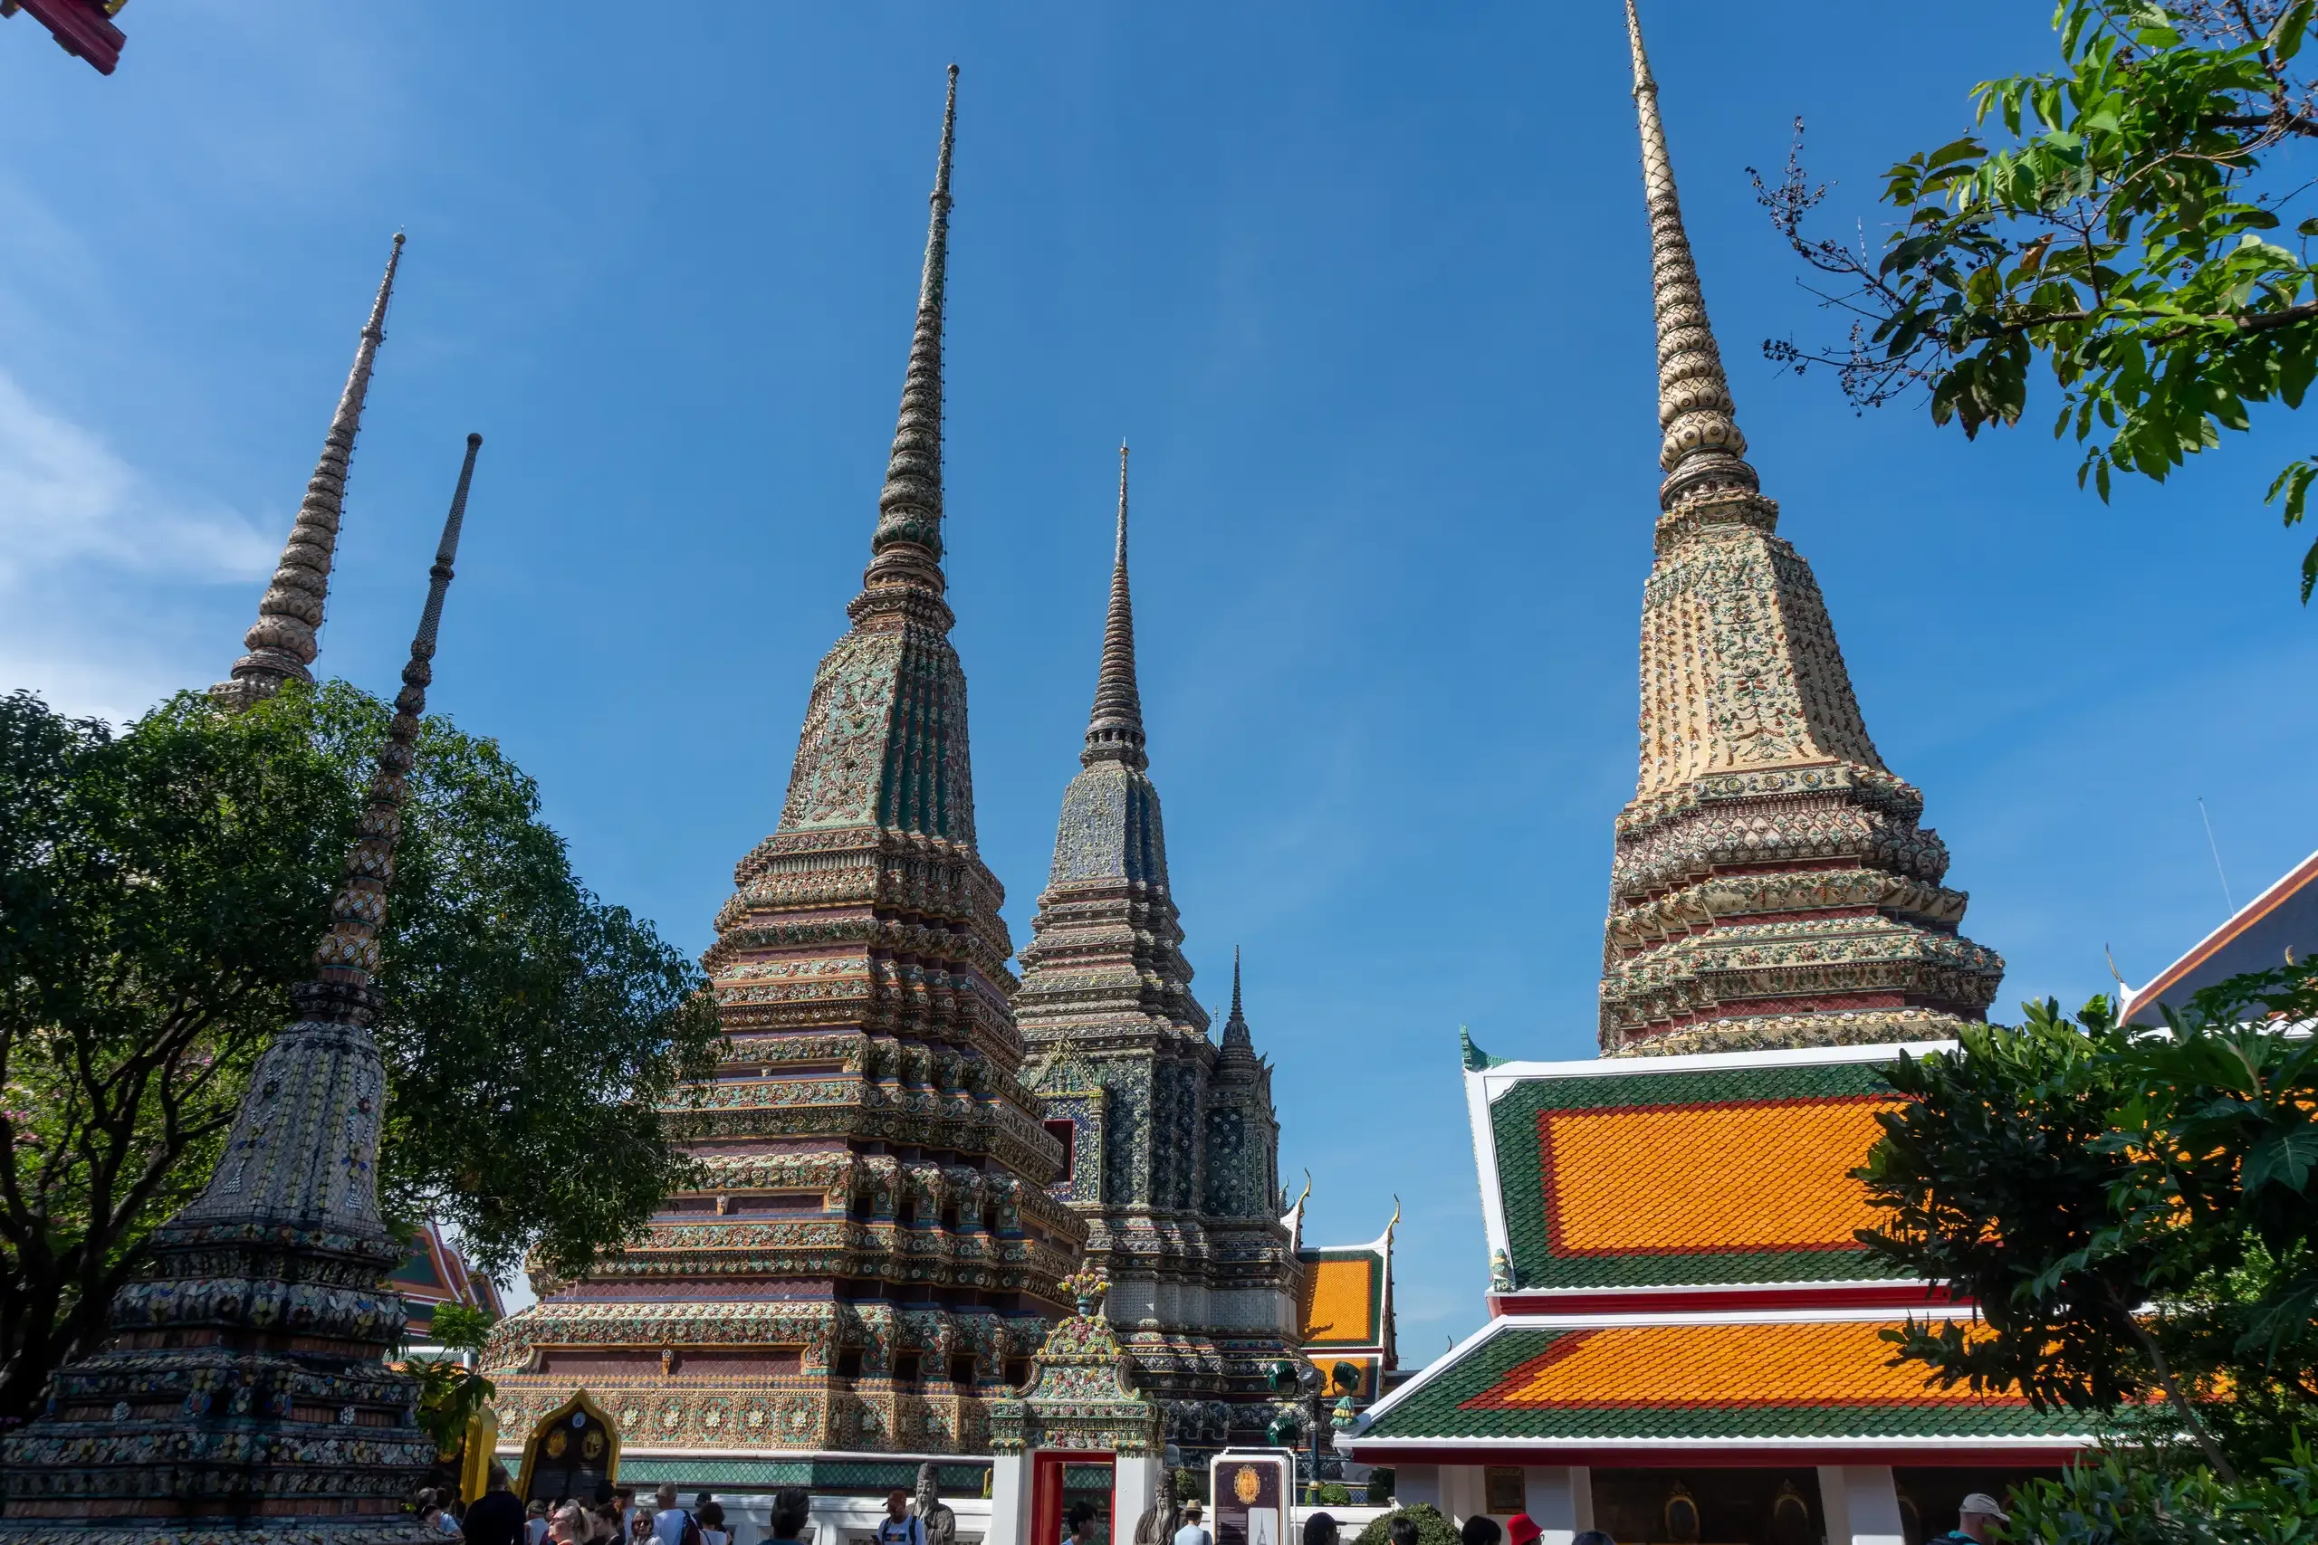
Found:
[[[111,79],[0,21],[0,681],[134,713],[239,653],[410,232],[322,665],[387,690],[487,435],[440,709],[686,947],[779,811],[860,581],[962,65],[948,514],[1015,943],[1136,447],[1152,776],[1208,998],[1247,950],[1314,1232],[1405,1202],[1400,1337],[1481,1318],[1456,1026],[1586,1056],[1632,792],[1655,387],[1618,7],[132,5]],[[1738,417],[2000,1005],[2146,980],[2318,845],[2318,618],[2265,422],[2079,496],[2042,429],[1859,417],[1752,204],[1831,227],[2051,58],[2042,5],[1646,12]],[[2047,412],[2031,412],[2047,419]],[[1300,1184],[1300,1181],[1298,1181]]]

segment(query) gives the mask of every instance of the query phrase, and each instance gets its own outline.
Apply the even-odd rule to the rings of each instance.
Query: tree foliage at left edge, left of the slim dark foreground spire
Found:
[[[206,1179],[350,832],[285,711],[0,700],[0,1418]]]

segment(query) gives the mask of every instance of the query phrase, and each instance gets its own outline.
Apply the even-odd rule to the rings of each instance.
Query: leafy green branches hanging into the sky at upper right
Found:
[[[1766,352],[1834,366],[1861,405],[1922,394],[1966,435],[2014,424],[2042,364],[2054,435],[2084,447],[2077,482],[2100,498],[2112,473],[2163,482],[2258,403],[2299,408],[2318,378],[2318,218],[2295,218],[2311,195],[2295,146],[2318,139],[2311,14],[2061,0],[2058,69],[1982,81],[1977,132],[1885,174],[1882,250],[1806,234],[1827,188],[1789,155],[1757,195],[1854,324],[1836,347]],[[2304,456],[2272,484],[2288,526],[2313,479]],[[2313,586],[2318,542],[2304,602]]]

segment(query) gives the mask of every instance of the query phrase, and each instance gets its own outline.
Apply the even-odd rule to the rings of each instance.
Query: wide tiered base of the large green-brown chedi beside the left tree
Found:
[[[781,832],[737,878],[723,1066],[670,1110],[705,1184],[503,1323],[501,1429],[584,1385],[647,1448],[981,1452],[1085,1237],[1015,1079],[997,883],[862,827]]]

